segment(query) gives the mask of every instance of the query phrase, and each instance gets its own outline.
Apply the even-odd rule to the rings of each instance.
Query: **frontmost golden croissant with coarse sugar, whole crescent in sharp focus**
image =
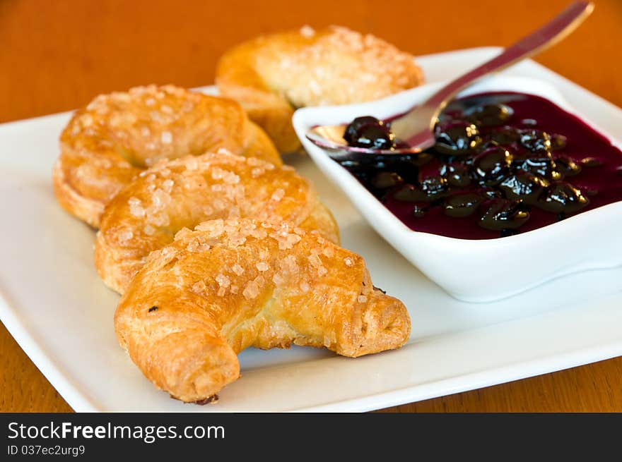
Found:
[[[159,389],[209,401],[244,348],[326,347],[357,357],[409,338],[404,304],[363,258],[293,224],[206,221],[149,255],[115,312],[119,343]]]

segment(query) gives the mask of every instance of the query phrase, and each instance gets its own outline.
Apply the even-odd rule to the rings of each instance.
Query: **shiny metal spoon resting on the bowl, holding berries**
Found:
[[[594,4],[591,1],[575,1],[546,25],[507,47],[503,53],[452,80],[419,106],[394,118],[391,121],[391,130],[395,138],[408,147],[372,150],[348,146],[344,140],[346,124],[317,126],[307,131],[306,136],[315,145],[329,150],[331,157],[352,157],[356,154],[416,154],[426,150],[435,143],[434,126],[440,111],[460,90],[485,75],[507,68],[556,44],[573,32],[592,13],[593,9]]]

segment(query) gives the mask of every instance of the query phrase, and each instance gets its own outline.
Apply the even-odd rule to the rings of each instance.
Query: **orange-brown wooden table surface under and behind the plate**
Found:
[[[305,23],[369,31],[413,54],[505,45],[569,0],[0,1],[0,122],[146,83],[213,82],[242,39]],[[391,4],[392,9],[382,6]],[[537,61],[622,106],[622,1]],[[71,411],[0,326],[0,411]],[[389,411],[622,411],[622,358]]]

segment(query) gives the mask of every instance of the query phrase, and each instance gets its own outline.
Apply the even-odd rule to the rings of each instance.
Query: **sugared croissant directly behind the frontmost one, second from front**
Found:
[[[110,201],[95,242],[95,267],[107,286],[123,293],[145,257],[177,231],[229,217],[292,221],[339,243],[331,213],[291,167],[208,153],[160,161]]]

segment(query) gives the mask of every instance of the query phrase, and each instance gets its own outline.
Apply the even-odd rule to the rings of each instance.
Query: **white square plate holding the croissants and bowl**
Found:
[[[429,82],[497,53],[422,56]],[[546,80],[573,107],[618,135],[622,110],[524,61],[507,71]],[[206,89],[213,91],[213,89]],[[290,159],[315,182],[343,245],[365,257],[375,285],[413,319],[398,351],[349,359],[315,348],[249,349],[221,401],[195,406],[157,391],[119,348],[118,296],[92,261],[94,233],[52,193],[58,135],[69,114],[0,126],[0,318],[76,411],[367,411],[521,379],[622,354],[622,267],[555,279],[495,303],[455,300],[380,238],[310,159]],[[589,236],[586,236],[589,245]]]

